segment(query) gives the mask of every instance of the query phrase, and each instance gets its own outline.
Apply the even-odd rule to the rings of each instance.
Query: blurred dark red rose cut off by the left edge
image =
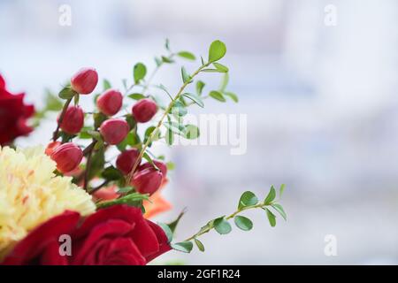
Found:
[[[5,89],[5,81],[0,75],[0,145],[33,131],[27,126],[27,119],[33,116],[34,106],[24,104],[24,96],[24,93],[13,95]]]

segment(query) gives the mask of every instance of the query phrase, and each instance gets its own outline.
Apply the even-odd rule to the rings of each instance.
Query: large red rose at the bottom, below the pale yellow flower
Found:
[[[142,211],[115,205],[82,220],[65,211],[29,233],[3,264],[125,264],[142,265],[170,250],[160,226],[142,217]],[[61,256],[62,234],[72,238],[72,256]]]

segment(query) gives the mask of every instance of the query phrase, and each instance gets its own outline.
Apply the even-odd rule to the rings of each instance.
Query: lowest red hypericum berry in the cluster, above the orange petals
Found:
[[[163,174],[154,168],[146,168],[134,173],[131,185],[140,194],[152,195],[162,185]]]

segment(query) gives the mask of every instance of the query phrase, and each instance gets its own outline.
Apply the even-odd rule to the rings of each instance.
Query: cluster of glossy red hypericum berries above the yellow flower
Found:
[[[83,68],[75,73],[71,79],[70,91],[73,96],[88,95],[94,91],[98,83],[98,74],[91,68]],[[69,98],[68,101],[72,100]],[[80,134],[84,126],[85,113],[79,105],[65,106],[57,118],[58,126],[63,133],[68,135]],[[106,145],[118,145],[126,139],[130,126],[126,119],[112,118],[116,115],[123,104],[123,96],[116,89],[106,89],[100,96],[96,97],[96,107],[101,115],[101,123],[97,125],[100,137]],[[157,113],[157,103],[152,99],[145,98],[134,104],[130,119],[135,123],[149,122]],[[57,163],[57,170],[61,173],[75,171],[85,156],[84,152],[73,142],[50,142],[46,153]],[[89,153],[86,152],[87,154]],[[161,161],[152,161],[141,164],[139,149],[126,149],[122,151],[116,160],[116,167],[119,172],[127,176],[133,173],[130,184],[141,194],[152,195],[162,185],[167,173],[166,165]],[[89,164],[88,164],[89,165]],[[136,169],[133,172],[134,165]],[[88,180],[85,180],[86,182]]]

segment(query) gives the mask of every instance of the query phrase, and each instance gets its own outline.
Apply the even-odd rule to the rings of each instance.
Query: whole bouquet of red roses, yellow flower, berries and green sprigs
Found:
[[[92,111],[83,111],[79,102],[97,87],[95,69],[75,73],[58,96],[47,96],[46,107],[35,115],[34,107],[23,103],[24,94],[11,94],[0,77],[0,117],[5,121],[0,125],[2,264],[143,265],[172,249],[189,253],[196,246],[204,251],[201,235],[212,230],[230,233],[230,220],[249,231],[253,223],[241,215],[245,210],[264,210],[271,226],[276,213],[286,218],[271,187],[263,200],[244,192],[235,211],[211,219],[183,241],[175,241],[173,234],[185,211],[168,224],[149,220],[171,209],[160,189],[173,164],[156,156],[153,144],[172,146],[176,138],[199,136],[197,126],[184,123],[189,107],[204,107],[207,98],[238,101],[226,90],[228,68],[219,63],[226,54],[223,42],[210,44],[208,57],[201,57],[194,72],[181,67],[182,83],[175,95],[152,80],[163,65],[178,58],[195,60],[195,55],[173,52],[168,41],[165,51],[155,58],[149,76],[145,65],[134,65],[133,82],[123,80],[123,93],[103,80],[102,92],[93,95]],[[202,73],[220,75],[221,87],[203,95],[205,83],[197,80]],[[195,88],[188,91],[191,86]],[[155,88],[165,93],[168,103],[150,95]],[[27,119],[34,115],[38,126],[48,111],[60,113],[47,147],[15,148],[13,140],[33,130]],[[282,185],[279,196],[283,190]]]

